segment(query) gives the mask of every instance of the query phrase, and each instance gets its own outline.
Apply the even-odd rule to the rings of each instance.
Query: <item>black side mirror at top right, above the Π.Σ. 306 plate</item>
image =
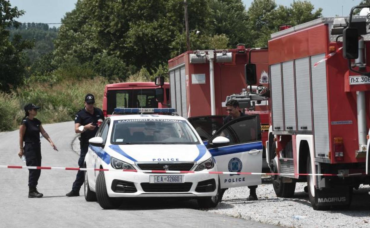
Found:
[[[343,58],[359,58],[359,33],[357,28],[343,29]]]

